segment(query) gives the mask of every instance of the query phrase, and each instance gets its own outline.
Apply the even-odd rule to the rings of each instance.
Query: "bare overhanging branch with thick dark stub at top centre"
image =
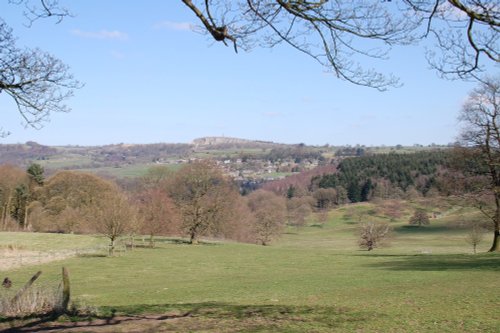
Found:
[[[381,1],[182,1],[203,29],[235,50],[287,44],[337,77],[379,90],[398,80],[364,69],[357,57],[385,58],[391,45],[410,42],[415,29],[413,20],[391,14],[395,6]]]

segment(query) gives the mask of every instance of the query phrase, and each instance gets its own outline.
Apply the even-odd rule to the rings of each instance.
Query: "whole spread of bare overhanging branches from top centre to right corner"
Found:
[[[182,1],[216,41],[235,50],[288,44],[339,78],[379,90],[397,79],[360,63],[429,36],[437,50],[428,61],[444,77],[476,76],[484,60],[500,61],[498,0]]]

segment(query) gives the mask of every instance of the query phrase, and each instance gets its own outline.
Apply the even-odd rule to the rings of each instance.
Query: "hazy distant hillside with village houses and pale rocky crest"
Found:
[[[283,144],[231,137],[203,137],[192,143],[111,144],[103,146],[44,146],[36,142],[0,144],[0,164],[26,168],[41,164],[48,174],[83,170],[115,177],[137,177],[154,165],[173,169],[191,159],[214,159],[236,178],[280,178],[289,173],[336,163],[348,156],[390,152],[412,153],[437,147],[334,147]],[[322,170],[320,174],[326,172]],[[307,177],[320,175],[313,173]],[[297,186],[304,176],[290,179]],[[309,181],[308,181],[309,183]]]

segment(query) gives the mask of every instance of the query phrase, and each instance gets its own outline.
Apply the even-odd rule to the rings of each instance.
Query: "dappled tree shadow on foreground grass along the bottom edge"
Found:
[[[331,332],[342,327],[368,328],[380,314],[334,306],[234,305],[218,302],[105,307],[92,317],[66,320],[0,321],[2,332],[114,332],[143,327],[144,332]],[[165,330],[164,330],[165,329]]]

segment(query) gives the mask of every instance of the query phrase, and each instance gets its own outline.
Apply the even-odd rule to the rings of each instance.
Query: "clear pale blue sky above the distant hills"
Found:
[[[235,53],[190,29],[176,1],[62,1],[74,14],[26,27],[23,7],[0,3],[18,46],[70,66],[84,87],[40,130],[26,128],[0,94],[0,143],[188,143],[226,136],[308,145],[454,142],[457,115],[475,84],[429,69],[423,47],[397,48],[377,64],[400,77],[389,91],[354,86],[286,45]],[[367,62],[368,67],[371,63]]]

